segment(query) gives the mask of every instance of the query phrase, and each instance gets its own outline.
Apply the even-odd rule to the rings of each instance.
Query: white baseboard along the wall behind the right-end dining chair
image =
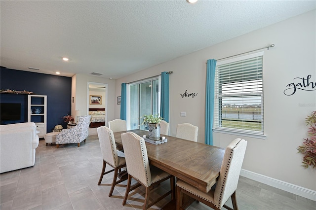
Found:
[[[285,181],[281,181],[269,176],[257,174],[254,172],[250,172],[244,169],[241,169],[240,175],[246,178],[250,178],[255,181],[259,181],[261,183],[276,187],[278,189],[293,193],[295,195],[302,196],[304,198],[316,201],[316,191],[307,189],[305,187],[301,187],[295,184],[291,184]]]

